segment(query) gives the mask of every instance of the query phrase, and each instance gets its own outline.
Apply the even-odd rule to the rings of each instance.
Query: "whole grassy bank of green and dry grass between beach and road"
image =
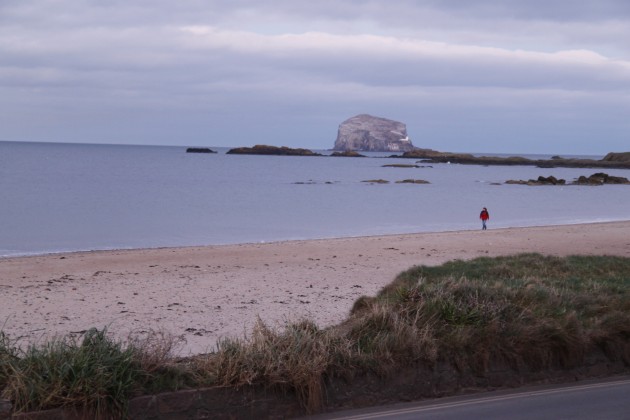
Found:
[[[114,342],[106,331],[20,349],[0,334],[0,389],[19,411],[81,406],[124,413],[134,395],[262,384],[295,392],[316,411],[326,379],[449,364],[484,375],[572,368],[594,352],[630,366],[630,259],[512,257],[414,267],[341,325],[308,320],[281,331],[258,322],[247,340],[185,360],[154,335]]]

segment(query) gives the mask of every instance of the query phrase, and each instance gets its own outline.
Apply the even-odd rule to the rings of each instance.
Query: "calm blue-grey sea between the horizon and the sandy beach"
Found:
[[[630,186],[503,184],[598,169],[391,168],[415,160],[213,149],[0,142],[0,256],[480,229],[482,207],[489,229],[630,220]],[[373,179],[390,183],[362,182]]]

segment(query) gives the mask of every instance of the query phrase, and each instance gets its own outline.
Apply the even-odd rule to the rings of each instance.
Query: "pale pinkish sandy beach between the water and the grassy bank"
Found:
[[[0,325],[21,343],[162,331],[185,356],[244,337],[257,317],[339,323],[414,265],[522,252],[630,257],[630,222],[4,258]]]

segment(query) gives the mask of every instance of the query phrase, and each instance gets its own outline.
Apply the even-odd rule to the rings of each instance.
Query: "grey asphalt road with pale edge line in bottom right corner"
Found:
[[[630,420],[630,376],[440,398],[309,419]]]

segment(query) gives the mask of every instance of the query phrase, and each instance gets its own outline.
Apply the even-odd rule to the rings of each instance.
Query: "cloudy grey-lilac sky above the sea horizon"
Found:
[[[630,151],[628,0],[0,0],[0,140]]]

